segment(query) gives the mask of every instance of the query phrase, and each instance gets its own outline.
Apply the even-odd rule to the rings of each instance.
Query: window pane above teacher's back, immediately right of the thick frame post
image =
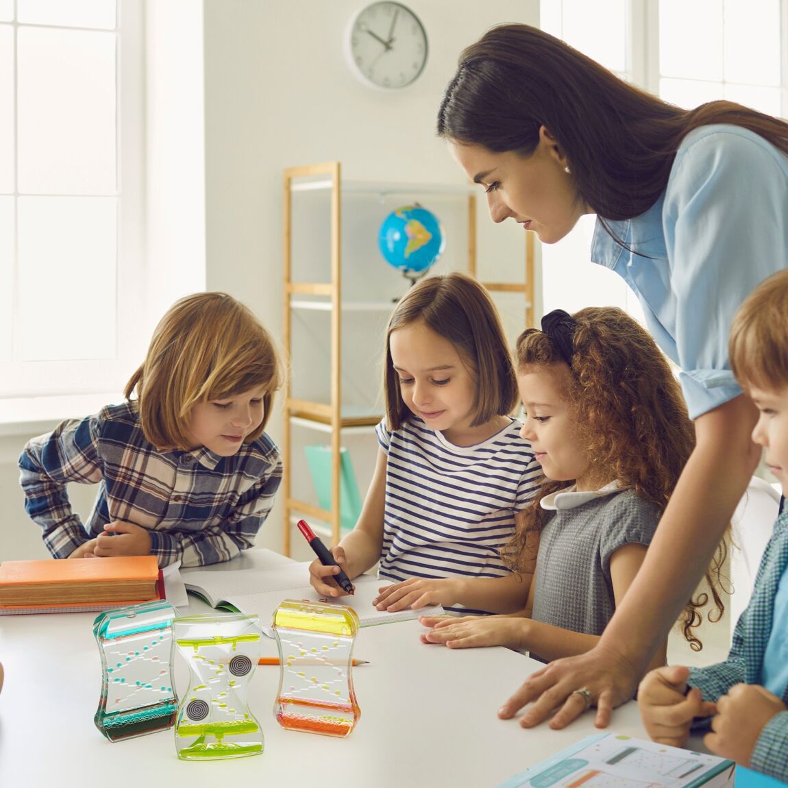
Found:
[[[660,74],[723,79],[723,0],[660,0]]]

